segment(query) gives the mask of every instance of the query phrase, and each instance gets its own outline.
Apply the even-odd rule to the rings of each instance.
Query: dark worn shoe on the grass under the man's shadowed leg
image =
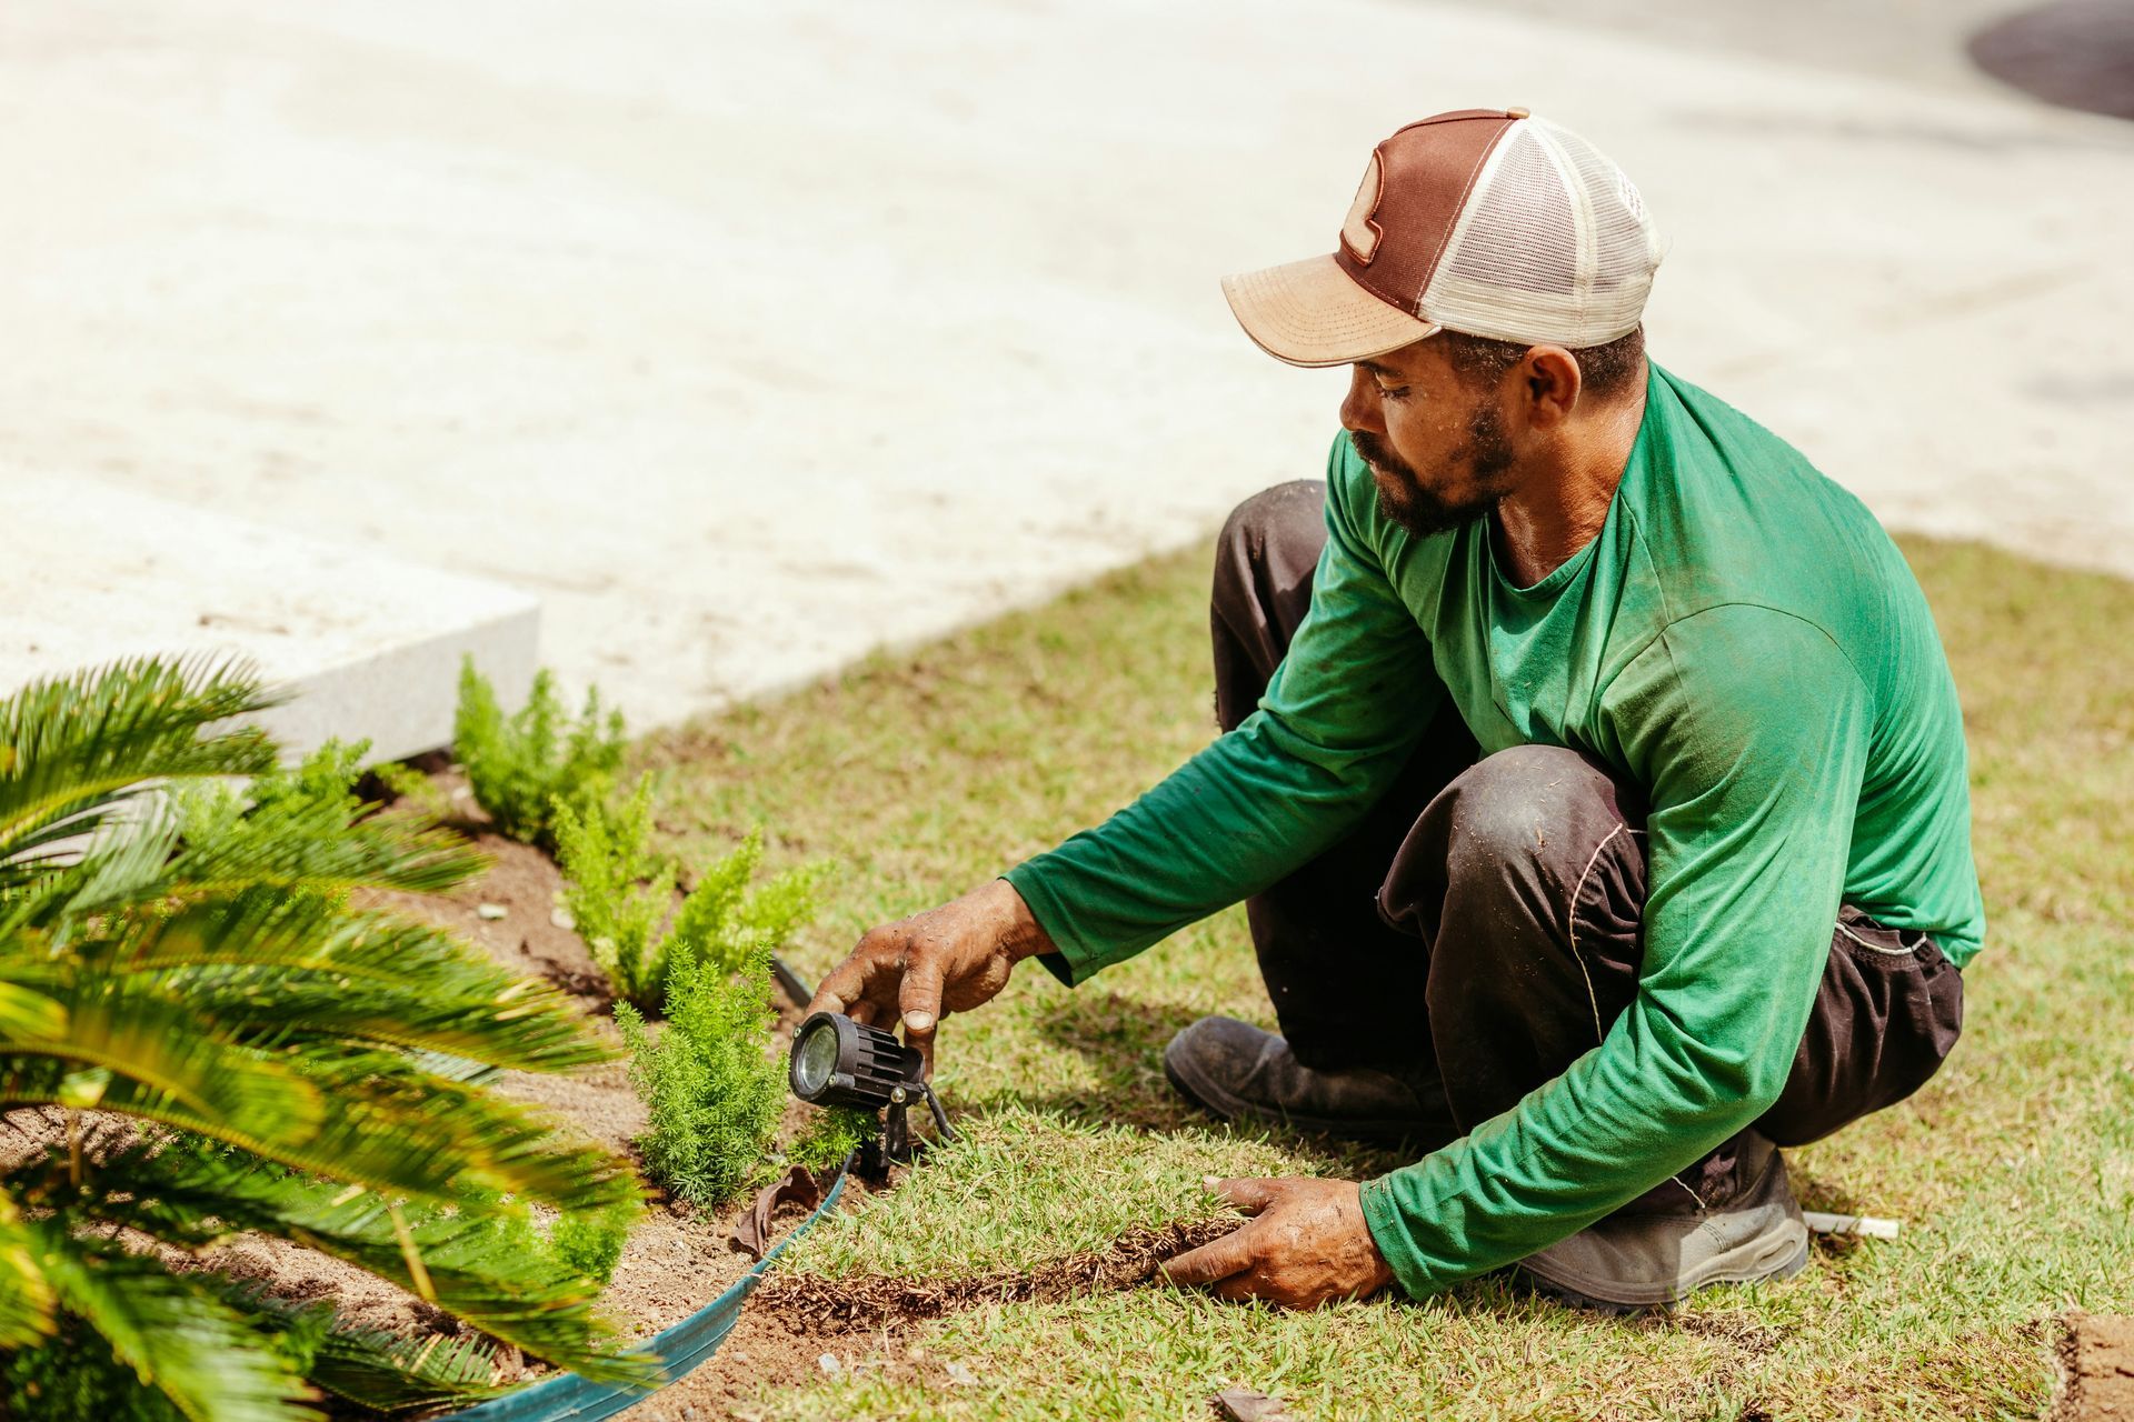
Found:
[[[1272,1121],[1355,1141],[1421,1141],[1432,1149],[1460,1136],[1443,1092],[1391,1072],[1304,1066],[1289,1043],[1236,1017],[1201,1017],[1163,1049],[1163,1074],[1216,1115]]]

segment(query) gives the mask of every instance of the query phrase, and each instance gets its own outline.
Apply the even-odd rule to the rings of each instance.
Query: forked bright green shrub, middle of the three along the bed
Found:
[[[785,947],[815,912],[817,870],[787,870],[751,889],[764,861],[764,836],[755,831],[704,868],[662,934],[676,872],[651,851],[651,829],[649,776],[621,808],[557,806],[557,861],[570,880],[563,904],[615,993],[655,1017],[670,1011],[666,981],[679,957],[738,972],[755,947]]]

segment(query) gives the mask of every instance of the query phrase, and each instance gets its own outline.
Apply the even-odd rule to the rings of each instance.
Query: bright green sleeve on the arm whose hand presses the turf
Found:
[[[1844,891],[1872,697],[1818,627],[1677,620],[1603,695],[1598,750],[1650,789],[1645,957],[1598,1047],[1468,1136],[1364,1185],[1423,1294],[1586,1228],[1778,1100]]]

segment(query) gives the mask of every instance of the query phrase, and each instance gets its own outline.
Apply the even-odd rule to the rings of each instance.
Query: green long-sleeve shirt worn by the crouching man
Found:
[[[1364,1185],[1411,1294],[1524,1258],[1778,1098],[1840,902],[1963,966],[1985,912],[1963,723],[1874,516],[1782,439],[1652,367],[1600,533],[1539,584],[1487,520],[1415,537],[1349,439],[1312,605],[1259,710],[1007,874],[1080,983],[1332,846],[1451,697],[1483,753],[1568,746],[1643,789],[1645,955],[1600,1047]]]

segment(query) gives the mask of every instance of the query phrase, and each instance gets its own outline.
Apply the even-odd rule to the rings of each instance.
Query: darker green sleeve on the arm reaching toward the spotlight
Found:
[[[1430,642],[1379,563],[1370,473],[1347,446],[1329,458],[1310,612],[1259,710],[1097,829],[1009,870],[1061,947],[1041,962],[1063,981],[1317,857],[1385,793],[1436,712]]]

